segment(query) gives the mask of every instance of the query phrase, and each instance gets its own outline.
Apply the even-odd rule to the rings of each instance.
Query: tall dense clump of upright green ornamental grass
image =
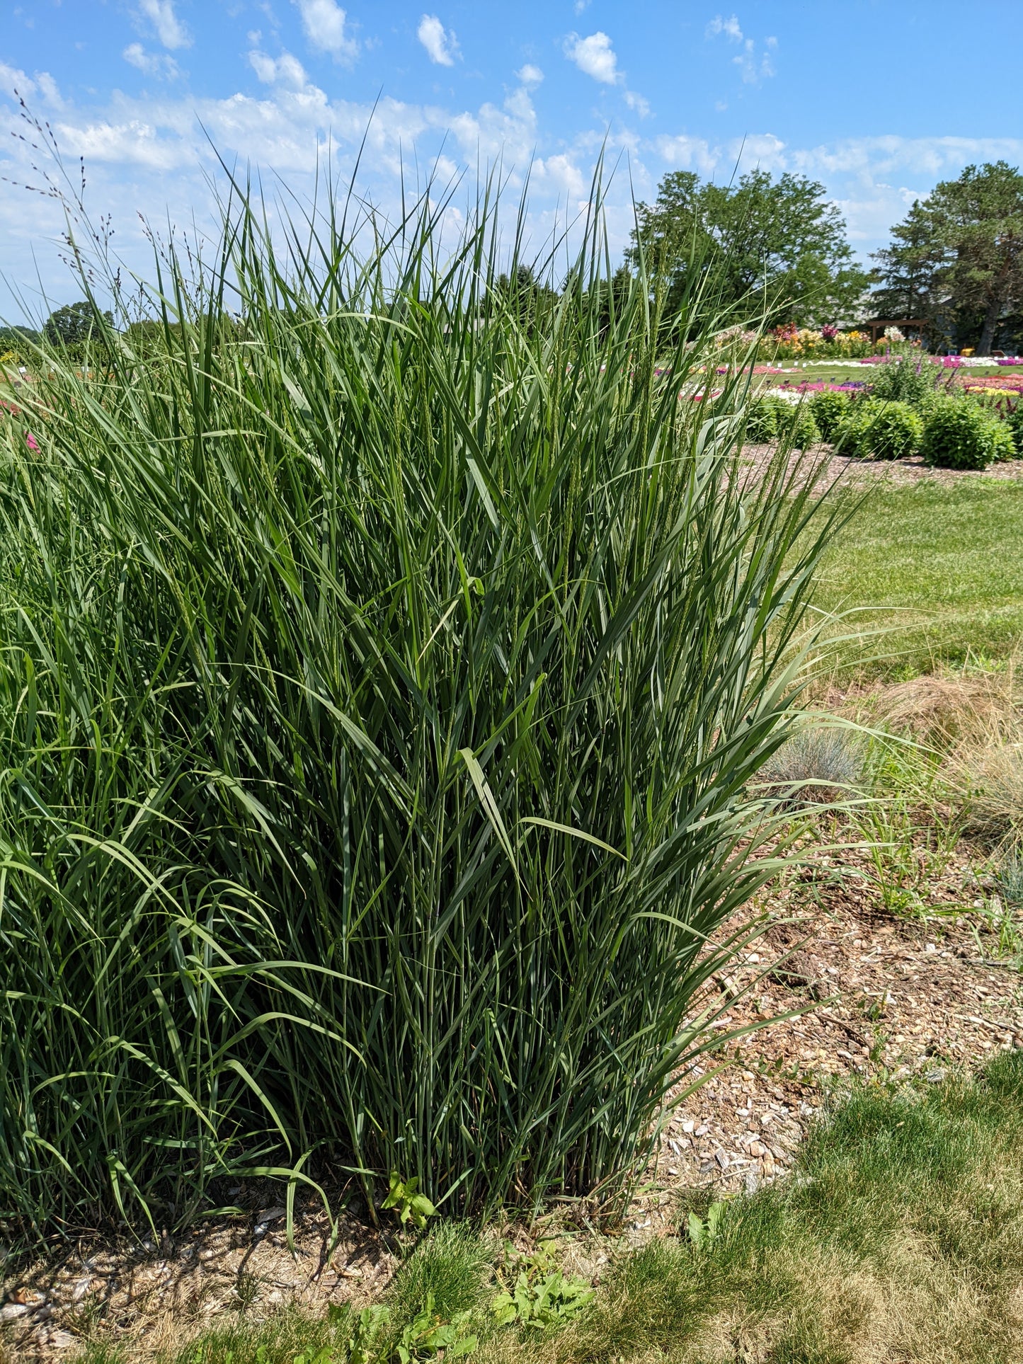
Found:
[[[608,1192],[720,1037],[827,514],[739,461],[743,381],[689,398],[709,310],[657,378],[599,226],[540,323],[443,211],[236,206],[158,345],[46,356],[5,426],[7,1217]]]

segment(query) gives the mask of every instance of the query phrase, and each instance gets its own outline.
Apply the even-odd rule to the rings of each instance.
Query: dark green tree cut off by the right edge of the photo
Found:
[[[917,201],[874,254],[881,312],[930,321],[988,355],[1023,333],[1023,175],[970,165]]]

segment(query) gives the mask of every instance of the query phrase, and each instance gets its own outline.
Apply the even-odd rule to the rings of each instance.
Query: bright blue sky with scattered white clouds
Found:
[[[0,15],[0,120],[26,131],[18,89],[85,158],[87,206],[136,269],[139,214],[210,221],[206,134],[306,194],[318,158],[351,170],[368,125],[361,187],[383,205],[402,164],[473,176],[501,157],[514,186],[532,162],[537,240],[585,201],[606,143],[619,250],[630,192],[653,198],[672,169],[809,175],[869,252],[936,180],[1023,162],[1008,0],[7,0]],[[31,307],[75,296],[59,206],[23,188],[42,169],[4,138],[0,270]],[[19,311],[0,286],[0,314]]]

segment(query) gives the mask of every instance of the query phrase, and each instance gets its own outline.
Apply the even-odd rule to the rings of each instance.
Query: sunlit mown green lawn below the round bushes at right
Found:
[[[843,675],[1007,657],[1023,638],[1023,481],[869,492],[825,559],[816,604],[843,614],[828,630]]]

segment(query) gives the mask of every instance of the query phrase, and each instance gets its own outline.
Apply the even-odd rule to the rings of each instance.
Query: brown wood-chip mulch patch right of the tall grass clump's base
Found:
[[[1023,1046],[1022,979],[990,955],[975,914],[983,891],[962,846],[917,918],[884,910],[863,853],[821,854],[792,876],[765,904],[771,928],[717,982],[719,1001],[742,992],[720,1020],[728,1031],[780,1020],[727,1045],[726,1068],[679,1105],[657,1158],[662,1188],[752,1191],[787,1170],[835,1091],[940,1082]],[[647,1209],[633,1225],[664,1215]]]

